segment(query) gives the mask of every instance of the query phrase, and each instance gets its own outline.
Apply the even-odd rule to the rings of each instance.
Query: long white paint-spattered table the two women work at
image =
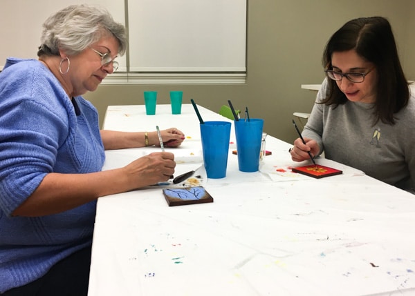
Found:
[[[199,108],[205,121],[227,120]],[[187,159],[176,172],[199,166],[192,106],[169,113],[109,106],[104,127],[176,126],[190,137],[169,149]],[[289,147],[268,137],[273,155],[246,173],[230,144],[227,177],[203,185],[211,204],[168,207],[160,188],[100,198],[89,295],[414,295],[415,196],[327,159],[317,163],[344,174],[294,174],[288,167],[302,164]],[[104,169],[155,149],[109,151]]]

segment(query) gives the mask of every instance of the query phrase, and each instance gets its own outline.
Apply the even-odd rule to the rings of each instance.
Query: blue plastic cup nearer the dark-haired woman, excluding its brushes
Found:
[[[257,172],[261,153],[264,119],[234,121],[237,136],[238,166],[241,172]]]

